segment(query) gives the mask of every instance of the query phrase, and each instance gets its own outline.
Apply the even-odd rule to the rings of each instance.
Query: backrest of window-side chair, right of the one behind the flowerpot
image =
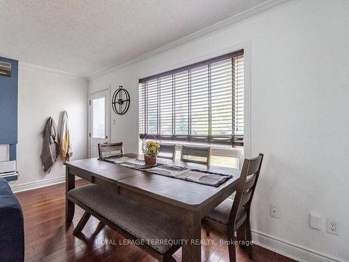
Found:
[[[211,147],[192,147],[182,145],[181,147],[181,161],[191,163],[203,163],[209,165],[211,159]]]

